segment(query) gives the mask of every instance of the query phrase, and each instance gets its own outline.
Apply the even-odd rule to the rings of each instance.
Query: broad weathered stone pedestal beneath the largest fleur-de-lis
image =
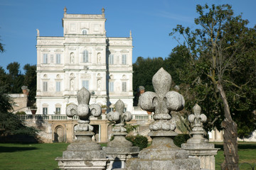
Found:
[[[139,158],[128,159],[127,169],[144,170],[199,170],[199,159],[188,158],[188,153],[174,145],[174,132],[150,132],[153,138],[150,147],[139,152]]]

